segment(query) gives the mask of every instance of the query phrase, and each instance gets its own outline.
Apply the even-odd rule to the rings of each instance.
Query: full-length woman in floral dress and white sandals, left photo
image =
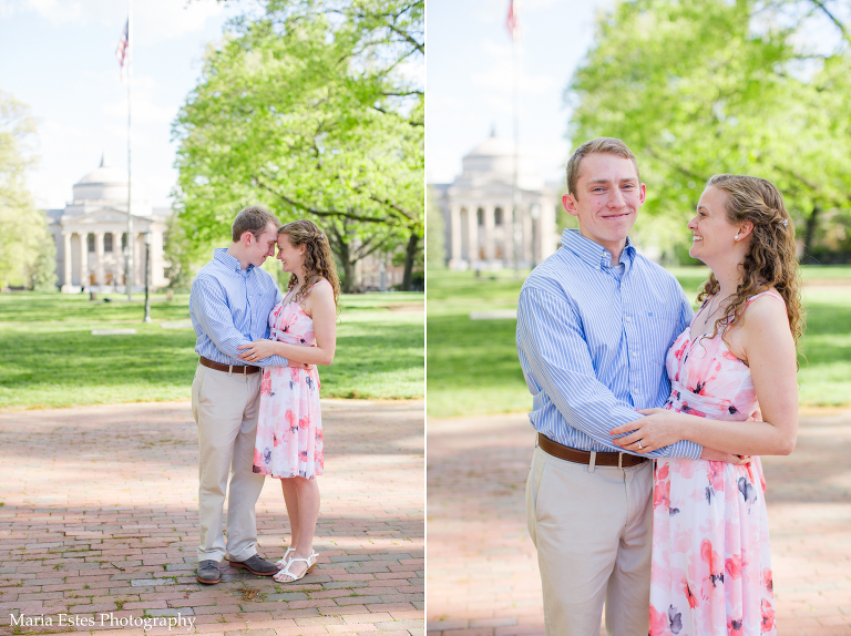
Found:
[[[278,355],[308,365],[330,365],[337,343],[340,283],[328,239],[310,220],[278,230],[278,260],[289,271],[287,294],[269,315],[271,340],[243,345],[240,358]],[[314,532],[319,516],[322,421],[316,367],[271,367],[263,372],[254,472],[280,479],[291,543],[278,561],[278,583],[305,577],[316,565]]]

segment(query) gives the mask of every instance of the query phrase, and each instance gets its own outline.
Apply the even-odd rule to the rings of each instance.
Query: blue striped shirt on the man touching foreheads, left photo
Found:
[[[216,249],[213,260],[192,281],[189,316],[197,336],[195,351],[219,365],[245,366],[237,347],[269,337],[269,314],[283,299],[267,271],[254,265],[243,269],[227,249]],[[252,366],[287,363],[286,358],[269,356]]]

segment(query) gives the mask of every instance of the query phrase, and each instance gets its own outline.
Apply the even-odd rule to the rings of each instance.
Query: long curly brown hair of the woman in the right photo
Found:
[[[739,319],[748,298],[773,287],[786,302],[789,328],[798,345],[804,329],[801,274],[794,250],[794,224],[786,211],[783,196],[771,182],[756,176],[717,174],[706,186],[727,193],[725,209],[729,223],[753,224],[748,252],[739,265],[741,281],[727,302],[725,315],[715,321],[712,337]],[[710,274],[697,300],[701,302],[719,291],[718,279]]]

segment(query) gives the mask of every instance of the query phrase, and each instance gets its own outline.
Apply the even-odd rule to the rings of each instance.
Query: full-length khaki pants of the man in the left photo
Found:
[[[264,475],[252,472],[262,373],[229,375],[207,367],[195,370],[192,382],[192,414],[198,425],[198,561],[223,561],[229,554],[245,561],[257,554],[254,506],[263,490]],[[227,478],[227,552],[222,534]]]

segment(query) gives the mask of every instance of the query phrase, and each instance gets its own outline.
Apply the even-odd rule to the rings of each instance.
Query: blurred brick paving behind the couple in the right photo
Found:
[[[801,414],[796,451],[762,462],[778,635],[851,635],[851,410]],[[429,418],[429,636],[543,635],[532,445],[524,414]]]

